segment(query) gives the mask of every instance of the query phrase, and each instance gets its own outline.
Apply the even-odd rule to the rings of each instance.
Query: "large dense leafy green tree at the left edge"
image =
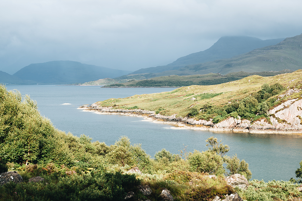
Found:
[[[18,91],[0,86],[0,159],[8,162],[36,163],[50,157],[55,129],[41,117],[37,103]]]

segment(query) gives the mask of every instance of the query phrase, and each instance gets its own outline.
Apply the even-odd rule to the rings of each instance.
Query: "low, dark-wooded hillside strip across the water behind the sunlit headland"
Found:
[[[124,82],[117,82],[121,80],[116,80],[114,83],[110,85],[106,85],[103,87],[161,87],[161,86],[190,86],[190,85],[214,85],[214,84],[221,84],[226,82],[231,82],[234,80],[240,80],[244,77],[248,77],[251,75],[260,75],[263,77],[274,76],[278,74],[284,73],[292,73],[288,69],[283,71],[265,71],[265,72],[253,72],[253,73],[246,73],[246,72],[236,72],[236,73],[229,73],[226,75],[222,75],[219,73],[209,73],[204,75],[190,75],[190,76],[178,76],[178,75],[169,75],[169,76],[162,76],[162,77],[153,77],[148,80],[129,80]],[[104,81],[101,81],[104,83]],[[92,83],[98,83],[94,81]],[[84,83],[85,84],[85,83]]]

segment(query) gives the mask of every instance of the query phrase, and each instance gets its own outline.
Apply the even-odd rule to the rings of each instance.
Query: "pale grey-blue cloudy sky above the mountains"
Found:
[[[300,35],[300,8],[300,0],[0,0],[0,71],[56,60],[166,65],[222,36]]]

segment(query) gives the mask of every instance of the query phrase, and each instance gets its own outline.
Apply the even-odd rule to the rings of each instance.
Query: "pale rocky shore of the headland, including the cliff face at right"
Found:
[[[260,119],[251,122],[247,119],[230,117],[217,124],[206,120],[195,120],[187,117],[176,117],[177,114],[164,116],[155,111],[141,109],[114,109],[113,107],[101,107],[97,103],[90,106],[81,106],[78,109],[94,111],[98,114],[117,114],[143,117],[156,123],[171,124],[175,127],[183,127],[195,130],[248,132],[248,133],[302,133],[302,99],[290,99],[274,109],[268,111],[270,121]]]

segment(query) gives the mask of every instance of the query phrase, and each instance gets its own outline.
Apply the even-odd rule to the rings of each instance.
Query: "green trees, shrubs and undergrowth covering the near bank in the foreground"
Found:
[[[175,200],[209,200],[235,191],[246,200],[302,197],[292,182],[253,180],[248,190],[227,185],[227,175],[239,173],[250,179],[252,173],[244,160],[227,156],[229,147],[214,137],[207,139],[207,151],[188,153],[185,148],[171,154],[162,149],[153,159],[125,136],[107,146],[85,135],[56,130],[29,96],[8,92],[4,86],[0,117],[0,171],[18,171],[25,181],[0,186],[0,200],[124,200],[129,191],[135,192],[133,200],[161,200],[162,188],[170,190]],[[136,166],[143,174],[127,174]],[[35,176],[45,181],[27,183]],[[153,193],[144,196],[140,184],[149,185]]]

